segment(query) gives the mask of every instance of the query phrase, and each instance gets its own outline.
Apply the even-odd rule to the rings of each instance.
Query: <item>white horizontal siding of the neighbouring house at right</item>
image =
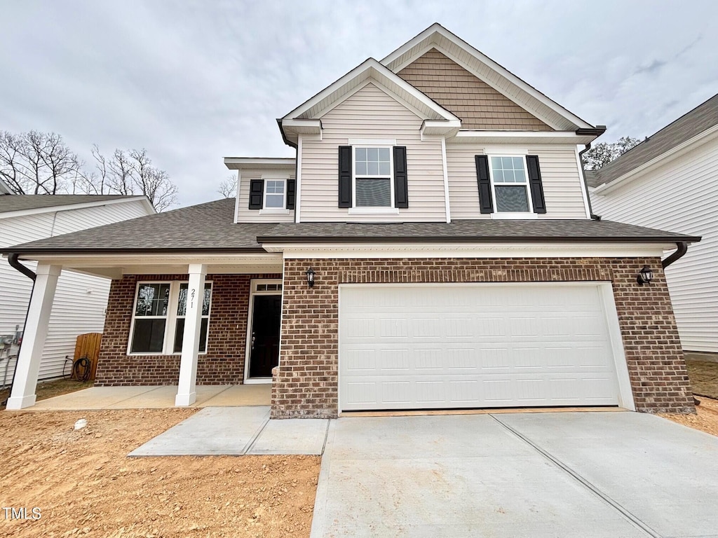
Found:
[[[605,220],[703,237],[666,279],[683,348],[718,353],[718,141],[592,194],[591,202]]]

